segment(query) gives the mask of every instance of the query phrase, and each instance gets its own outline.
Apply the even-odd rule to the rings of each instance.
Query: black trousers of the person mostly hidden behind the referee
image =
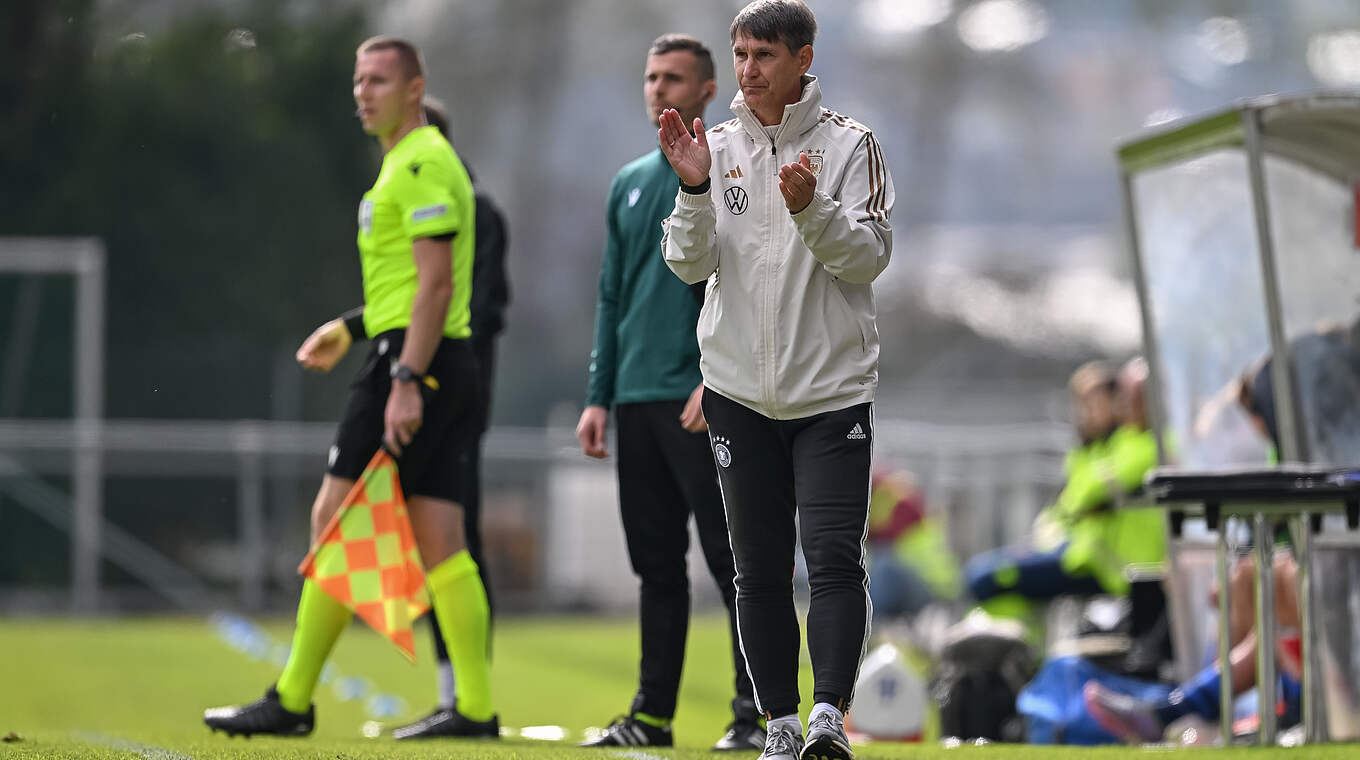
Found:
[[[464,450],[458,454],[457,466],[462,476],[460,477],[461,495],[457,502],[462,507],[462,534],[468,544],[468,553],[477,563],[477,575],[481,576],[481,585],[487,589],[487,608],[495,615],[495,604],[491,598],[491,571],[487,568],[487,556],[481,548],[481,439],[491,426],[491,379],[495,375],[496,344],[495,339],[472,339],[471,343],[481,379],[469,411],[473,430],[466,436]],[[443,643],[443,634],[439,631],[439,619],[435,616],[434,608],[430,608],[430,632],[434,634],[435,658],[439,662],[449,662],[449,650]],[[491,636],[487,636],[487,649],[491,649]]]

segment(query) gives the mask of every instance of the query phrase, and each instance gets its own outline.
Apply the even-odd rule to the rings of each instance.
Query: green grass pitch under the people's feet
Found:
[[[276,642],[286,642],[291,624],[271,621],[265,629]],[[422,649],[416,666],[360,625],[347,631],[336,650],[333,662],[344,676],[363,677],[375,691],[405,700],[405,714],[389,723],[424,714],[432,704],[434,666],[423,624],[418,640]],[[695,620],[675,723],[680,746],[673,750],[573,746],[585,727],[604,725],[632,697],[638,642],[636,627],[627,619],[511,619],[498,624],[494,684],[502,722],[515,729],[562,726],[567,731],[562,742],[506,738],[408,744],[364,738],[360,727],[369,716],[363,704],[339,699],[330,687],[318,689],[317,731],[310,738],[248,741],[209,734],[201,723],[201,711],[257,697],[277,668],[228,646],[205,619],[4,620],[0,621],[0,736],[14,731],[22,741],[0,744],[0,760],[714,757],[706,748],[726,723],[732,697],[726,646],[721,619]],[[811,693],[809,678],[805,666],[804,695]],[[808,707],[804,704],[805,711]],[[861,745],[857,752],[866,760],[959,756],[1121,760],[1146,757],[1151,750],[1001,745],[944,749],[937,744],[880,742]],[[1360,748],[1353,745],[1186,752],[1195,759],[1360,757]]]

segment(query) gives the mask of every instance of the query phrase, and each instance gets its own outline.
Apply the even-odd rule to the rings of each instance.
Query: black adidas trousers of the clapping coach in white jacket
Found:
[[[767,718],[798,708],[794,544],[802,537],[812,606],[813,699],[845,711],[869,639],[873,405],[771,420],[711,389],[703,394],[737,562],[737,624],[756,703]]]

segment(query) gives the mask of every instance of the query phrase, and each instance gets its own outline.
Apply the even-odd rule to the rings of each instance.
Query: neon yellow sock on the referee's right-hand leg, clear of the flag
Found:
[[[491,608],[487,589],[477,575],[477,563],[466,549],[441,562],[426,574],[430,601],[439,616],[443,644],[458,684],[458,712],[473,721],[490,721],[491,663],[487,661],[487,632]]]

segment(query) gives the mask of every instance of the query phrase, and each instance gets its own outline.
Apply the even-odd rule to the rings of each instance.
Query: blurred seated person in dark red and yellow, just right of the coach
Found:
[[[944,526],[926,513],[904,469],[873,474],[869,495],[869,598],[879,617],[911,617],[934,601],[957,598],[959,560]]]

